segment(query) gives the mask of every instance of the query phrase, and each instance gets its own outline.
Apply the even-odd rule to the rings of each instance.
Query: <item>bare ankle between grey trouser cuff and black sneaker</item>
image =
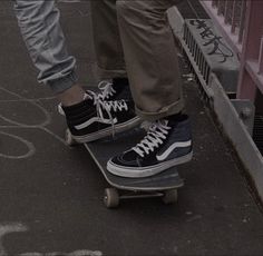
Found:
[[[84,100],[85,90],[79,85],[75,85],[68,90],[59,93],[57,98],[60,100],[64,107],[74,106]]]

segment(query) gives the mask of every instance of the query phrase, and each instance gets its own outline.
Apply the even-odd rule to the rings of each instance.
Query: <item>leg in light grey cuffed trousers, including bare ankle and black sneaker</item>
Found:
[[[128,102],[104,102],[77,85],[76,60],[66,49],[55,1],[16,0],[14,10],[32,62],[39,70],[38,80],[50,86],[61,100],[67,125],[78,142],[111,135],[113,124],[118,132],[138,122]]]

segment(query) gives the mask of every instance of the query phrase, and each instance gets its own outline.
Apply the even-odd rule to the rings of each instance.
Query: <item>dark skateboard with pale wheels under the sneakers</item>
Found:
[[[132,198],[160,197],[165,204],[174,204],[178,199],[177,189],[184,186],[176,167],[172,167],[160,174],[144,178],[125,178],[110,174],[107,170],[107,161],[110,157],[135,146],[146,135],[145,129],[118,134],[114,138],[96,140],[85,144],[85,148],[97,164],[107,183],[111,186],[105,189],[104,204],[107,208],[116,208],[120,200]],[[66,132],[66,142],[74,145],[70,131]]]

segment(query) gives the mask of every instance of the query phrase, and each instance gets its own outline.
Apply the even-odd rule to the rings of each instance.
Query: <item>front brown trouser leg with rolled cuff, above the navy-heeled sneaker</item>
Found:
[[[125,61],[137,112],[156,120],[182,111],[177,51],[166,10],[171,0],[118,0]]]

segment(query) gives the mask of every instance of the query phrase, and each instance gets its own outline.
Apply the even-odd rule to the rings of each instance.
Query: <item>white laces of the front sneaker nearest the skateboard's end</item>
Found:
[[[154,151],[159,145],[164,142],[168,135],[168,130],[172,129],[168,127],[167,120],[158,120],[154,122],[144,139],[133,147],[133,150],[136,151],[140,157],[148,155],[150,151]]]

